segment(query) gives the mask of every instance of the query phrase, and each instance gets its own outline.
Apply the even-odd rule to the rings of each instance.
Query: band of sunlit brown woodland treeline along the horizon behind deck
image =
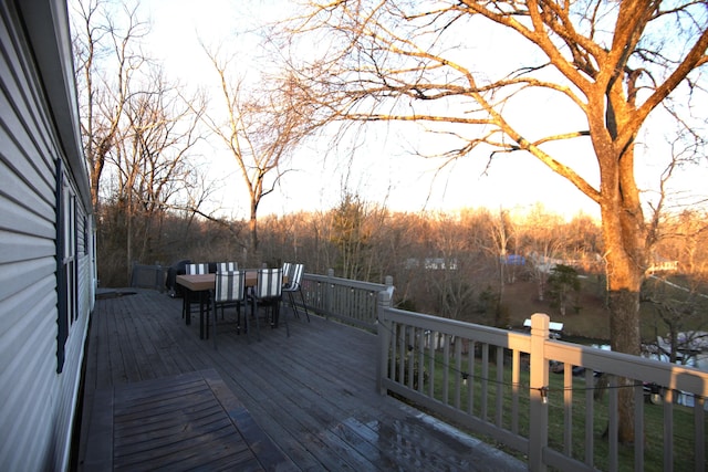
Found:
[[[679,270],[702,277],[705,218],[685,212],[665,219],[656,260],[677,261]],[[600,224],[582,213],[566,221],[541,206],[523,214],[483,208],[404,213],[347,196],[327,211],[269,216],[259,227],[260,244],[252,253],[247,221],[169,211],[128,218],[121,204],[104,204],[97,227],[101,285],[126,285],[133,262],[277,266],[298,261],[317,274],[334,269],[336,276],[371,282],[392,275],[398,306],[501,326],[506,285],[533,281],[542,298],[553,264],[604,274]]]

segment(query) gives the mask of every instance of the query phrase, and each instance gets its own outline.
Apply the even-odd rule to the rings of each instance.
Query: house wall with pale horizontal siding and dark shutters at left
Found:
[[[0,470],[61,471],[95,294],[66,2],[0,18]]]

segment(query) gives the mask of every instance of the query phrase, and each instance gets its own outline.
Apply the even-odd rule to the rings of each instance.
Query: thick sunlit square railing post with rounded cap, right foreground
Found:
[[[531,379],[529,382],[529,470],[545,471],[543,450],[549,443],[549,361],[544,344],[549,338],[550,318],[543,313],[531,316]]]

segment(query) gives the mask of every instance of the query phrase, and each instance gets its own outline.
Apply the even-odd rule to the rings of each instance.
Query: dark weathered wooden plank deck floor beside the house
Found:
[[[76,469],[525,470],[376,391],[376,336],[311,316],[218,349],[153,291],[97,300]]]

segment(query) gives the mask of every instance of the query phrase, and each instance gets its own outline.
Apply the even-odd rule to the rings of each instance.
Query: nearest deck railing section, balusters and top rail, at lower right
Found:
[[[657,461],[658,470],[706,470],[708,373],[552,340],[543,314],[532,316],[525,334],[392,308],[385,292],[379,302],[383,395],[492,438],[524,454],[533,471],[642,471]],[[550,374],[551,363],[563,375]],[[621,385],[623,378],[629,384]],[[664,387],[660,406],[645,403],[647,385]],[[632,451],[617,440],[622,388],[635,397],[639,440]],[[649,409],[652,421],[663,417],[659,424],[649,424]],[[647,428],[662,431],[653,434],[658,442]],[[679,450],[686,451],[680,458]]]

